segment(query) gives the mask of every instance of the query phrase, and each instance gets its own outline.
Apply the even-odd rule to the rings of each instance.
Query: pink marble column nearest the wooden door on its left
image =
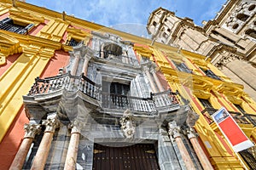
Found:
[[[80,130],[83,127],[83,123],[77,119],[71,124],[71,127],[71,138],[69,141],[67,157],[64,166],[65,170],[73,170],[76,167],[79,150]]]

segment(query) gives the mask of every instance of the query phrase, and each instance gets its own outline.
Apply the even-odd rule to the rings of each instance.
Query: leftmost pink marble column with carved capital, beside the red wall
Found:
[[[24,129],[26,131],[24,139],[20,144],[20,148],[15,156],[14,161],[9,167],[10,170],[20,170],[23,167],[24,161],[26,160],[26,155],[31,147],[32,141],[35,135],[40,132],[39,124],[25,124]]]

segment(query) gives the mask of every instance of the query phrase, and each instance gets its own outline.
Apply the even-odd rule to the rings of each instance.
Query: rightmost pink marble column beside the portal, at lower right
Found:
[[[191,128],[189,129],[188,138],[195,150],[196,156],[201,162],[203,169],[213,170],[212,164],[208,160],[205,152],[201,149],[201,145],[198,143],[198,140],[195,137],[195,133]]]

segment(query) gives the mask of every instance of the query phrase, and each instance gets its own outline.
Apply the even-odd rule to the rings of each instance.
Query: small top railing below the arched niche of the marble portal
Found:
[[[125,55],[113,54],[109,53],[108,51],[98,51],[97,53],[98,56],[102,59],[109,59],[127,65],[138,65],[137,59],[131,59]]]

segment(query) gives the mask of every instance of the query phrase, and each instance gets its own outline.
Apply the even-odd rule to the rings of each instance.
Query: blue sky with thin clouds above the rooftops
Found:
[[[26,0],[57,12],[110,26],[120,31],[148,37],[146,26],[150,13],[162,7],[178,17],[189,17],[195,25],[212,20],[226,0]]]

